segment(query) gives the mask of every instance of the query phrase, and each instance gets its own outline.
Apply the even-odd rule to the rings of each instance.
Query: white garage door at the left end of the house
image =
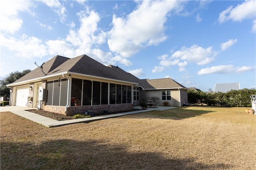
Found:
[[[28,103],[28,86],[18,87],[16,91],[16,106],[26,106]]]

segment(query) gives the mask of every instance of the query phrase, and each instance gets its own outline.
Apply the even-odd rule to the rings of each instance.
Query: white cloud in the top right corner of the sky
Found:
[[[233,6],[228,7],[226,10],[222,11],[219,15],[218,21],[220,23],[226,22],[228,20],[232,21],[242,21],[245,19],[254,19],[256,13],[256,3],[255,0],[246,0],[242,4],[239,4],[235,8]],[[253,30],[255,26],[253,26]]]

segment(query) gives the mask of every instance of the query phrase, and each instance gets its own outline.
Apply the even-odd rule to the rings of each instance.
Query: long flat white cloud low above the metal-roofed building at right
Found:
[[[248,67],[248,66],[242,66],[242,67],[234,67],[234,65],[218,65],[213,67],[207,67],[205,69],[201,69],[198,71],[198,75],[204,75],[204,74],[224,74],[224,73],[241,73],[245,71],[251,71],[255,69],[255,67]]]

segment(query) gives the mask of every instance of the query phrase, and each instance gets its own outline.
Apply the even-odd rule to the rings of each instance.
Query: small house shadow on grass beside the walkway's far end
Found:
[[[136,114],[136,116],[143,118],[145,117],[145,115],[148,115],[150,117],[157,117],[159,119],[181,120],[181,119],[196,117],[203,114],[214,112],[214,111],[205,111],[205,110],[193,110],[193,109],[187,109],[187,108],[189,107],[179,107],[179,108],[174,108],[174,109],[169,109],[164,111],[149,111],[149,112]],[[145,118],[148,118],[148,117],[145,117]]]

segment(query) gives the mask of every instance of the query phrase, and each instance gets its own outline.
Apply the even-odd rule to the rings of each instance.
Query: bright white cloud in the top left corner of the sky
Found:
[[[30,8],[34,7],[31,1],[11,1],[2,0],[0,4],[0,29],[1,32],[14,34],[20,30],[23,20],[20,18],[20,12],[32,14]]]

